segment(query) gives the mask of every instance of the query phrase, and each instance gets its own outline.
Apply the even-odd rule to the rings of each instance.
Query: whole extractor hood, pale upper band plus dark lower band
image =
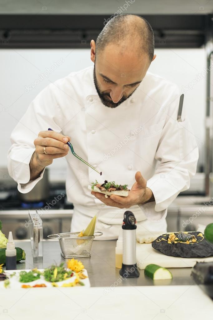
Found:
[[[90,48],[107,21],[125,13],[150,22],[156,48],[199,48],[213,9],[204,0],[0,0],[0,49]]]

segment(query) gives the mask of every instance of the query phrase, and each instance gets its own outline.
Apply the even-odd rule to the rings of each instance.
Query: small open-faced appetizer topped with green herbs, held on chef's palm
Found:
[[[92,182],[91,186],[88,186],[88,189],[94,191],[94,192],[100,192],[105,194],[105,197],[111,196],[111,195],[117,195],[117,196],[128,196],[128,191],[130,191],[128,188],[128,184],[115,184],[114,181],[108,182],[107,180],[104,181],[104,183],[100,184],[97,180],[95,182]]]

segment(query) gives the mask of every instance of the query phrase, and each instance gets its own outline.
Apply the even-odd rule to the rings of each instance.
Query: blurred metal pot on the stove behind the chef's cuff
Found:
[[[19,198],[23,202],[40,202],[49,196],[49,180],[48,169],[44,171],[43,178],[35,185],[35,187],[28,193],[19,193]]]

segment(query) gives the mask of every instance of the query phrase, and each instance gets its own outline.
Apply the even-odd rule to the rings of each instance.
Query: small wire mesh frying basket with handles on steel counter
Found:
[[[61,255],[63,258],[86,258],[91,256],[92,241],[95,236],[102,236],[103,232],[95,231],[98,235],[78,237],[79,232],[57,233],[49,235],[50,239],[59,239]]]

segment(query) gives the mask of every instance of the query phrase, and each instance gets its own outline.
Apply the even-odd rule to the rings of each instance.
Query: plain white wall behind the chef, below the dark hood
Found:
[[[204,49],[157,49],[157,58],[150,71],[157,73],[180,86],[186,86],[205,68]],[[26,93],[26,87],[35,82],[46,68],[63,59],[64,62],[35,88]],[[8,49],[0,50],[0,167],[7,166],[7,150],[10,147],[10,133],[25,113],[33,98],[51,81],[66,76],[71,71],[92,65],[89,49]],[[185,93],[184,106],[197,137],[204,140],[205,78]],[[33,119],[32,119],[33,125]],[[203,148],[200,145],[200,148]],[[201,160],[202,159],[201,149]],[[63,159],[55,159],[51,168],[64,167]],[[52,170],[51,170],[52,171]]]

